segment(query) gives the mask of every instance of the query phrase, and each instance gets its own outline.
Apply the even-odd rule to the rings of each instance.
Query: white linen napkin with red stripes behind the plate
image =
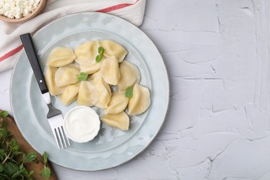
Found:
[[[143,22],[146,0],[48,0],[41,15],[21,24],[0,20],[0,72],[14,66],[23,48],[19,35],[35,33],[49,22],[78,12],[106,12],[136,26]]]

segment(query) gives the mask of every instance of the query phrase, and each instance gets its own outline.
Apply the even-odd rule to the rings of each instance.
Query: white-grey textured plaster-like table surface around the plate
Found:
[[[59,179],[270,179],[268,7],[147,0],[140,28],[170,76],[165,124],[132,161],[98,172],[53,165]],[[8,111],[10,75],[0,73],[0,108]]]

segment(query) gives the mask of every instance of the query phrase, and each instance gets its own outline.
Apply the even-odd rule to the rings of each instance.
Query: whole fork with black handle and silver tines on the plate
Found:
[[[53,132],[53,136],[57,143],[57,147],[60,150],[61,148],[70,146],[69,138],[66,136],[66,132],[64,130],[64,119],[62,116],[62,111],[55,109],[51,103],[51,96],[48,92],[48,88],[46,86],[46,81],[44,79],[44,75],[42,73],[42,69],[39,65],[39,60],[37,58],[37,53],[35,52],[35,47],[32,42],[32,38],[29,33],[20,36],[22,44],[24,44],[24,49],[26,51],[26,55],[28,56],[28,60],[32,66],[33,72],[35,74],[35,78],[37,79],[37,83],[39,84],[39,89],[42,92],[42,96],[48,105],[48,114],[47,119],[48,123]]]

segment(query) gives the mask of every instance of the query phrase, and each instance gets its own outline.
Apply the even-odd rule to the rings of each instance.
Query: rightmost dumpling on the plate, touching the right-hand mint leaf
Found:
[[[150,91],[146,87],[135,84],[133,88],[133,96],[129,99],[127,106],[129,115],[142,114],[150,106]]]

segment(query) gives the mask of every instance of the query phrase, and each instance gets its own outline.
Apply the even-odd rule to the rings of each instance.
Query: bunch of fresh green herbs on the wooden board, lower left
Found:
[[[0,112],[0,117],[6,118],[7,116],[8,111]],[[35,172],[33,170],[26,170],[24,167],[25,163],[39,163],[37,154],[35,152],[26,154],[20,151],[18,142],[15,138],[12,138],[12,133],[7,129],[6,120],[2,119],[0,121],[0,179],[33,179],[31,176]],[[47,168],[45,165],[44,170],[40,174],[44,179],[54,175],[51,173],[50,168]]]

